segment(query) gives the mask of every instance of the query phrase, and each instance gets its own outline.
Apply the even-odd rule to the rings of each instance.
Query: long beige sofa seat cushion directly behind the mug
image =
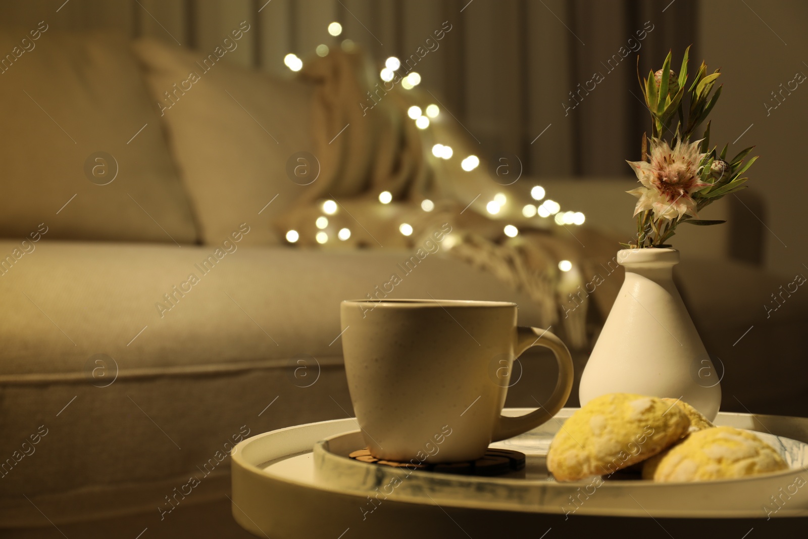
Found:
[[[204,370],[234,361],[285,360],[300,352],[340,356],[339,340],[334,342],[339,302],[373,293],[409,258],[394,250],[244,246],[257,228],[245,227],[249,232],[239,242],[228,242],[230,253],[215,246],[47,239],[33,244],[36,250],[11,270],[0,270],[0,301],[15,313],[0,317],[0,381],[7,375],[81,376],[86,360],[101,352],[122,369],[141,371]],[[0,254],[18,246],[2,241]],[[221,259],[215,262],[217,254]],[[190,274],[199,282],[183,284]],[[391,297],[512,300],[521,305],[523,323],[541,319],[526,295],[440,252],[402,281]],[[186,292],[175,293],[175,286]]]

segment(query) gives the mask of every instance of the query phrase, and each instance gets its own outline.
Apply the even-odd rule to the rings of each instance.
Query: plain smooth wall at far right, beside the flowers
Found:
[[[768,226],[766,265],[791,278],[808,275],[802,221],[808,197],[802,168],[808,85],[798,85],[791,95],[784,91],[776,109],[767,112],[764,106],[778,103],[771,92],[780,91],[795,74],[808,75],[808,3],[744,1],[747,6],[729,0],[699,5],[702,48],[710,63],[722,68],[726,84],[712,114],[711,137],[731,143],[749,128],[730,144],[730,151],[756,145],[755,154],[761,156],[750,171],[751,189],[764,198],[767,208],[767,215],[758,216]]]

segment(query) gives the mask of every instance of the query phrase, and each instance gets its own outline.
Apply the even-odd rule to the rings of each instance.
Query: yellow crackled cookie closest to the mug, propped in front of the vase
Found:
[[[687,434],[688,416],[661,398],[613,393],[593,398],[567,419],[547,453],[558,481],[610,475]]]

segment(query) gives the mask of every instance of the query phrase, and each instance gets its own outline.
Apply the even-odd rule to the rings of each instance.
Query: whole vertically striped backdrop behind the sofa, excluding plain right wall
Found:
[[[693,40],[693,2],[663,12],[650,0],[29,0],[0,2],[0,27],[44,19],[57,29],[154,36],[211,53],[246,20],[250,32],[224,60],[288,77],[287,53],[305,59],[318,44],[350,39],[378,65],[393,55],[403,61],[448,21],[452,31],[415,70],[481,154],[518,154],[532,175],[605,175],[625,172],[622,159],[635,156],[642,133],[642,105],[629,93],[638,95],[633,55],[604,70],[604,82],[574,110],[562,102],[646,20],[657,29],[642,44],[644,65],[671,45],[680,53]],[[343,25],[337,37],[327,32],[335,20]]]

